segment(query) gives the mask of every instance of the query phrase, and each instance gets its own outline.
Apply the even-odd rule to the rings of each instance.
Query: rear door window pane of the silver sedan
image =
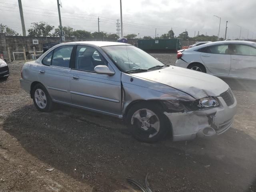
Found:
[[[52,66],[69,68],[70,57],[73,46],[61,46],[54,50],[52,56]]]

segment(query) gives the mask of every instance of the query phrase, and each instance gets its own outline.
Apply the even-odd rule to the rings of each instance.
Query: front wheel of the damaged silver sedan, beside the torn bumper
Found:
[[[130,108],[126,123],[134,138],[147,143],[162,140],[170,128],[170,123],[160,106],[146,102]]]

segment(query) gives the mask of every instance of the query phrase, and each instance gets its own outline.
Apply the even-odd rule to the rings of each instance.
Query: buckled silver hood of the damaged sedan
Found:
[[[196,99],[219,96],[229,88],[228,84],[218,77],[176,66],[134,73],[132,76],[171,86],[190,94]]]

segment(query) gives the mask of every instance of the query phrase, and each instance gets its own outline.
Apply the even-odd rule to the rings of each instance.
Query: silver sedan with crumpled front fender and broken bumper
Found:
[[[24,64],[20,84],[42,112],[60,103],[115,116],[143,142],[168,132],[174,141],[221,134],[236,113],[236,98],[219,78],[118,42],[56,45]]]

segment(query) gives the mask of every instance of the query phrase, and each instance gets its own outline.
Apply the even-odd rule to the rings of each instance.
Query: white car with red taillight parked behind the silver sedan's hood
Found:
[[[212,42],[180,50],[175,66],[218,77],[256,80],[256,42]]]

